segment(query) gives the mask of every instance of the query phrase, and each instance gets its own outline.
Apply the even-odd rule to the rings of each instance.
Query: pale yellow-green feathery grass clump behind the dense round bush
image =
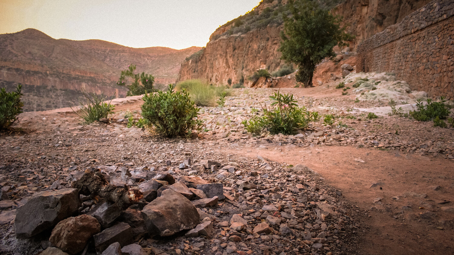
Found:
[[[224,86],[212,86],[201,80],[186,80],[177,84],[177,89],[185,89],[197,106],[216,106],[216,100],[225,92],[225,96],[230,93]]]

